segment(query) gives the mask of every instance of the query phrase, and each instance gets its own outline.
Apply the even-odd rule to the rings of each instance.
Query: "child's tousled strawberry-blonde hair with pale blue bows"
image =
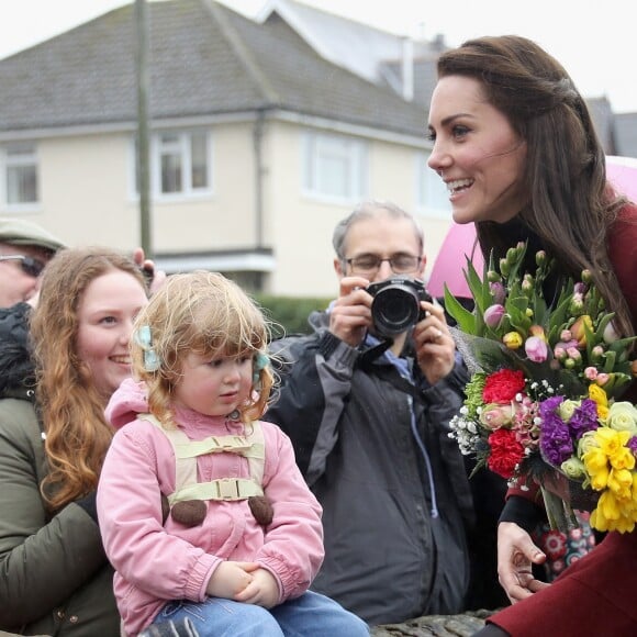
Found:
[[[250,356],[255,379],[238,411],[242,422],[266,411],[275,377],[267,365],[270,324],[256,303],[219,272],[198,270],[168,277],[135,320],[133,376],[146,383],[149,411],[175,426],[171,394],[189,354]]]

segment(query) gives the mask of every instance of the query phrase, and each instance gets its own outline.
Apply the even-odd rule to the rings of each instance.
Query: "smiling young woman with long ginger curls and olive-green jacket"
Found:
[[[96,489],[113,435],[103,415],[130,376],[139,268],[105,248],[59,252],[31,316],[33,357],[0,342],[0,629],[120,634]]]

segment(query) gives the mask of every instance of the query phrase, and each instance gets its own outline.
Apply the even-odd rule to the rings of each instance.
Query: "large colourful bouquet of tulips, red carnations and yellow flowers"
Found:
[[[472,312],[445,290],[472,373],[450,435],[477,468],[487,465],[523,489],[535,480],[554,528],[573,525],[570,505],[554,494],[556,483],[568,481],[571,493],[590,495],[580,501],[589,501],[593,527],[630,532],[637,409],[619,398],[637,377],[630,355],[637,337],[617,336],[588,271],[569,279],[549,305],[543,288],[554,262],[538,252],[535,272],[523,272],[526,249],[510,248],[498,266],[491,257],[482,277],[468,260]]]

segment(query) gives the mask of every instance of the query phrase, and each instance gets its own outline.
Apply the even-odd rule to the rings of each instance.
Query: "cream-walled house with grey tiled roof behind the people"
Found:
[[[367,199],[415,212],[433,262],[450,213],[422,104],[325,59],[276,4],[260,20],[212,0],[147,14],[159,267],[328,297],[332,231]],[[69,245],[139,245],[133,4],[0,60],[0,215]]]

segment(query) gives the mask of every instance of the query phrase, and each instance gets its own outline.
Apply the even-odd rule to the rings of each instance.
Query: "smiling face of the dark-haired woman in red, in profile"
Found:
[[[447,185],[456,223],[513,219],[524,206],[526,143],[477,79],[438,80],[429,109],[428,160]]]

